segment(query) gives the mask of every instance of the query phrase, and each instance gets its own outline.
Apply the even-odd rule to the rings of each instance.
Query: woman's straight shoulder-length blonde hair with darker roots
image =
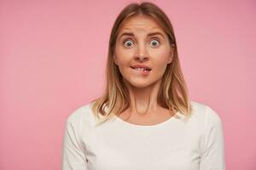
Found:
[[[157,98],[158,103],[175,113],[174,116],[177,116],[177,111],[187,118],[191,115],[192,105],[190,105],[188,89],[177,55],[177,43],[172,24],[166,14],[154,3],[143,2],[127,5],[113,24],[108,43],[105,91],[101,97],[93,99],[90,103],[97,122],[99,120],[106,122],[114,115],[119,115],[122,111],[125,111],[131,104],[128,89],[125,87],[119,68],[114,65],[113,54],[120,25],[125,19],[138,14],[143,14],[159,21],[160,26],[166,31],[169,42],[174,47],[172,63],[166,66],[166,71],[162,77]],[[102,124],[102,122],[99,124]]]

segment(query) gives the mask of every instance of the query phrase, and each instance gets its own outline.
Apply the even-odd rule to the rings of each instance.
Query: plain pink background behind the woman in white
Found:
[[[61,169],[67,116],[102,93],[130,2],[0,1],[1,170]],[[191,99],[222,118],[226,169],[256,169],[255,1],[152,2],[172,21]]]

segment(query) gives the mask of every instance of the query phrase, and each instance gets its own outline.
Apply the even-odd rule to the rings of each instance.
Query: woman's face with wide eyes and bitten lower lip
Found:
[[[145,88],[160,81],[172,56],[165,31],[150,17],[133,16],[120,26],[113,59],[132,86]],[[144,67],[150,71],[140,69]]]

